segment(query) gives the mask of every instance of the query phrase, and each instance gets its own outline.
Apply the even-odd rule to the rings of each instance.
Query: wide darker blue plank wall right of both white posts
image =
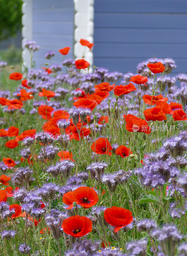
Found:
[[[94,65],[136,72],[149,57],[170,57],[187,72],[186,0],[95,0]]]

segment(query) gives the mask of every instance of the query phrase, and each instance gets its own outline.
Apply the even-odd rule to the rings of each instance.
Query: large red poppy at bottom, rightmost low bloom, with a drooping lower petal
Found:
[[[114,233],[133,221],[131,211],[116,206],[106,209],[104,211],[104,218],[108,224],[115,226]]]

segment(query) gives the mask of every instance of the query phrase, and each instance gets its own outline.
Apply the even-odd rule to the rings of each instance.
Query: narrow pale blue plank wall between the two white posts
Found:
[[[59,49],[70,46],[67,58],[73,55],[74,4],[73,0],[33,0],[33,40],[40,45],[34,53],[37,68],[48,62],[44,54],[51,50],[56,54],[53,64],[61,64]]]

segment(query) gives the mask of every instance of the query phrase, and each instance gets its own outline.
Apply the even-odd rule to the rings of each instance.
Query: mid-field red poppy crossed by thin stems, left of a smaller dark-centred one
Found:
[[[108,139],[105,139],[105,138],[97,139],[92,144],[91,149],[98,155],[104,155],[104,154],[107,154],[108,156],[112,155],[112,153],[109,152],[110,150],[112,150],[112,147],[111,147]]]

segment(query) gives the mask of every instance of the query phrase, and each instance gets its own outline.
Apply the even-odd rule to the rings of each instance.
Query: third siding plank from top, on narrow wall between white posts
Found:
[[[46,33],[46,34],[60,34],[60,35],[72,35],[74,24],[73,21],[56,21],[55,23],[50,21],[34,21],[33,31],[34,33]]]

